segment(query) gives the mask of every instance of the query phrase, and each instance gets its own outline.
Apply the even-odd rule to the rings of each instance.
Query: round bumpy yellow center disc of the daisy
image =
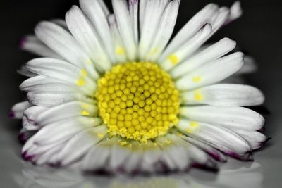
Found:
[[[96,97],[110,136],[146,142],[178,122],[178,90],[155,63],[114,66],[99,79]]]

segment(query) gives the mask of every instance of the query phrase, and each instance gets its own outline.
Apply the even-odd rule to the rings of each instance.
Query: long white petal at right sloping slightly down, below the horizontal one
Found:
[[[243,107],[195,106],[183,107],[180,114],[190,120],[221,125],[232,130],[254,131],[264,125],[264,118]]]

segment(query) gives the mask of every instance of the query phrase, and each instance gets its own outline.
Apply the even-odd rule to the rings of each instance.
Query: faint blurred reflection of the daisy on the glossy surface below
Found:
[[[247,165],[231,161],[222,166],[218,174],[192,170],[188,174],[158,175],[154,177],[106,177],[82,175],[71,169],[52,169],[25,164],[23,176],[17,177],[24,188],[200,188],[200,187],[262,187],[259,163]],[[19,180],[20,179],[20,180]]]

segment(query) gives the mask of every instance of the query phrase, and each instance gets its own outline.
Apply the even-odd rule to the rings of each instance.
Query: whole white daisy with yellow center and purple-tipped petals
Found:
[[[109,173],[216,168],[226,155],[251,160],[262,146],[263,103],[255,87],[223,84],[246,73],[243,54],[224,38],[203,44],[241,15],[205,6],[171,39],[180,0],[80,0],[66,21],[43,21],[22,48],[43,56],[19,70],[27,101],[23,158]],[[239,71],[239,72],[238,72]],[[224,155],[226,154],[226,155]]]

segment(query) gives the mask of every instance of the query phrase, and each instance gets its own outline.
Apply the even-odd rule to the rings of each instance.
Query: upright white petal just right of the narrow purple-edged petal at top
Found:
[[[159,29],[158,26],[161,20],[161,15],[167,4],[167,0],[154,0],[145,3],[145,14],[142,19],[143,23],[138,47],[138,56],[141,59],[145,58],[146,52],[149,51],[149,47],[154,41],[154,37]]]

